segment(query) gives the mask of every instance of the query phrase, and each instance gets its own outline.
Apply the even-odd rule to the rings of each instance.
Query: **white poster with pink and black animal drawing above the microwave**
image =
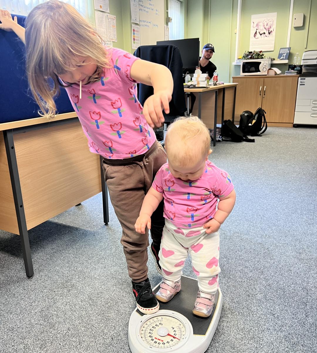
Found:
[[[250,51],[273,51],[277,12],[251,16]]]

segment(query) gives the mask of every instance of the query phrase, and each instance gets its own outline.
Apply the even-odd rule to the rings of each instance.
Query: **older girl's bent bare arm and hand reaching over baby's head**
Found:
[[[146,60],[133,62],[130,71],[131,78],[137,82],[153,86],[154,94],[143,104],[143,115],[151,127],[160,127],[164,122],[162,110],[169,113],[169,102],[173,93],[172,73],[166,66]]]

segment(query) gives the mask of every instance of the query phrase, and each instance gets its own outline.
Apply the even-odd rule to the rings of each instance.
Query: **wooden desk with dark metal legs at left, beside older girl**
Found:
[[[75,112],[3,123],[0,131],[0,229],[21,236],[32,277],[28,230],[100,191],[107,224],[106,184]]]

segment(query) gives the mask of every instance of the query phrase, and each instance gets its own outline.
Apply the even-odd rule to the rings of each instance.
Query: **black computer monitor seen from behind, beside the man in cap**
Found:
[[[178,47],[183,62],[184,73],[194,73],[195,68],[199,66],[199,38],[159,41],[156,44],[171,44]]]

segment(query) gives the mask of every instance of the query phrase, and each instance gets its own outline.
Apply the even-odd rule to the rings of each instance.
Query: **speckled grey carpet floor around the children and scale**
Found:
[[[220,228],[224,303],[207,352],[317,352],[317,129],[269,127],[255,143],[217,143],[237,202]],[[130,352],[135,302],[101,194],[29,231],[0,231],[0,352]],[[194,276],[189,259],[184,274]],[[152,285],[160,282],[149,257]],[[186,353],[184,351],[184,353]]]

